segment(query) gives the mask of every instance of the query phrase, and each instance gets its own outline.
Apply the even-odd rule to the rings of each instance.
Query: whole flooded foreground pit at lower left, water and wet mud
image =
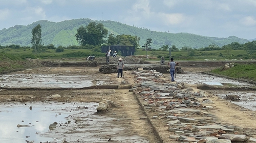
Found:
[[[108,142],[111,137],[120,142],[148,143],[146,138],[125,131],[114,118],[95,114],[97,106],[58,102],[0,105],[0,142],[61,142],[64,138],[68,142]]]

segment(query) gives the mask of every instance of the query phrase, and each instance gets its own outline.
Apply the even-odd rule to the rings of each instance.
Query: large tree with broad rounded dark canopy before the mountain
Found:
[[[105,43],[103,38],[108,35],[108,30],[102,23],[91,22],[86,27],[80,26],[75,34],[77,42],[82,45],[101,45]]]

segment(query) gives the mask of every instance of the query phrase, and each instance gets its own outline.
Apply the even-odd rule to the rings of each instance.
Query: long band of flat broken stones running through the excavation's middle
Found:
[[[159,72],[134,71],[133,74],[137,82],[130,92],[136,94],[147,119],[153,126],[168,127],[168,139],[159,134],[165,138],[162,142],[255,142],[250,137],[255,134],[253,130],[219,122],[210,113],[214,106],[203,91],[194,92],[183,82],[169,83],[159,78],[163,76]],[[157,128],[156,132],[159,132]]]

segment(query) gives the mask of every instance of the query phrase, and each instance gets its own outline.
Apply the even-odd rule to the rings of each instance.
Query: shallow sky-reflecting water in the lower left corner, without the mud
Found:
[[[27,103],[0,105],[0,142],[25,142],[25,140],[51,141],[57,138],[49,138],[37,134],[50,131],[49,125],[57,122],[66,124],[66,117],[70,111],[78,106],[87,106],[85,114],[95,112],[96,103]],[[94,109],[93,109],[94,108]]]

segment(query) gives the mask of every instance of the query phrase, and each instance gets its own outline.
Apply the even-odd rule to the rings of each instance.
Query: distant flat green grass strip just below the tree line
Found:
[[[91,49],[65,49],[63,52],[56,52],[55,49],[45,49],[41,53],[32,53],[31,48],[20,48],[11,49],[5,48],[0,49],[0,53],[8,53],[17,56],[22,59],[60,59],[60,58],[86,58],[89,55],[105,56],[105,53],[94,52]],[[165,60],[169,60],[169,51],[147,51],[149,57],[155,57],[155,59],[160,59],[164,56]],[[146,51],[142,49],[137,49],[135,55],[146,55]],[[172,57],[176,61],[187,60],[232,60],[232,59],[246,59],[249,57],[245,50],[213,50],[213,51],[195,51],[193,55],[189,51],[172,51]],[[1,60],[1,59],[0,59]]]

